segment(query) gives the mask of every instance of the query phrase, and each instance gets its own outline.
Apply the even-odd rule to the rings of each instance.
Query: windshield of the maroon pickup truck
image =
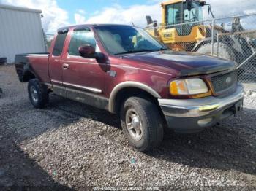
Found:
[[[102,44],[110,54],[153,52],[166,48],[141,28],[132,26],[96,26]]]

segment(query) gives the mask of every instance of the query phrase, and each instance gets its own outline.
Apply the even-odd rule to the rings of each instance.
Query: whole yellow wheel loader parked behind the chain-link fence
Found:
[[[162,24],[157,26],[157,22],[153,21],[151,16],[146,16],[148,26],[145,29],[171,50],[199,52],[206,55],[211,55],[213,51],[214,55],[218,52],[219,57],[237,63],[242,63],[252,55],[252,47],[241,35],[221,36],[217,43],[218,33],[230,31],[214,23],[203,24],[202,7],[208,6],[208,13],[214,18],[211,5],[206,4],[206,1],[171,0],[162,3],[161,6]],[[240,18],[236,17],[233,20],[231,33],[238,31],[244,31],[244,28],[240,24]],[[212,40],[214,44],[211,44]]]

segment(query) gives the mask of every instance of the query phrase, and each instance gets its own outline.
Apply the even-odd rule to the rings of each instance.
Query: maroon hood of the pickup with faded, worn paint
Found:
[[[211,74],[218,71],[236,69],[236,64],[232,61],[193,52],[165,50],[161,52],[126,55],[124,58],[174,69],[179,72],[178,76]]]

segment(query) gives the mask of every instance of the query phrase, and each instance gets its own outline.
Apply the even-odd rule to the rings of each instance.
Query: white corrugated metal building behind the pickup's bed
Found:
[[[0,4],[0,58],[12,63],[16,54],[45,52],[41,10]]]

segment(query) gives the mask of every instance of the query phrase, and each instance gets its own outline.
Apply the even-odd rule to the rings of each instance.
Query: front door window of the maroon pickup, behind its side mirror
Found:
[[[89,30],[74,31],[69,44],[69,55],[79,55],[78,47],[86,44],[96,48],[94,33]]]

